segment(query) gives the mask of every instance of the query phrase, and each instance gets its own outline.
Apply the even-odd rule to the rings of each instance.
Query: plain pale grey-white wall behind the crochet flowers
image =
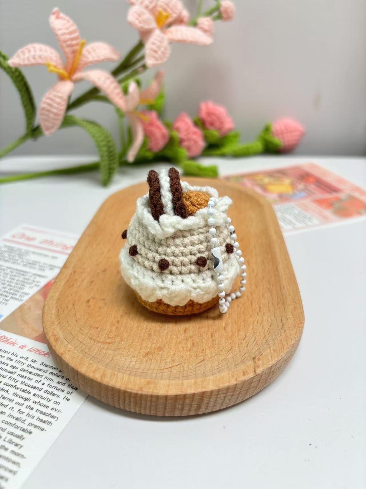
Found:
[[[123,54],[138,39],[125,20],[125,0],[55,2],[0,0],[0,49],[12,55],[32,42],[58,48],[48,24],[54,6],[77,22],[87,41],[109,42]],[[195,12],[197,0],[185,3]],[[194,115],[200,101],[212,99],[227,107],[245,140],[266,121],[289,115],[307,131],[298,154],[364,155],[366,0],[236,0],[236,5],[233,22],[215,23],[211,46],[174,45],[164,66],[165,115],[174,118],[183,110]],[[45,67],[24,72],[39,102],[55,75]],[[86,82],[79,84],[76,93],[86,88]],[[105,104],[89,104],[75,113],[96,118],[117,136],[114,112]],[[18,94],[0,72],[0,147],[23,128]],[[49,153],[93,154],[95,149],[81,130],[64,129],[17,150]]]

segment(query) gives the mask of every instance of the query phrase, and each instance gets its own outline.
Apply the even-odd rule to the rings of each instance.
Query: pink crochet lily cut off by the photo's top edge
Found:
[[[169,43],[208,45],[212,37],[202,30],[182,24],[185,9],[180,0],[129,0],[127,21],[137,29],[145,44],[148,68],[161,65],[170,55]]]

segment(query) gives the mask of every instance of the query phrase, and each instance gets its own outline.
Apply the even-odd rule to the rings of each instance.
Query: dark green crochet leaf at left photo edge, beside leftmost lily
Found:
[[[32,90],[30,89],[28,82],[20,71],[19,68],[12,68],[8,65],[9,57],[0,51],[0,68],[5,71],[15,85],[20,95],[21,104],[23,106],[25,116],[25,128],[26,133],[30,133],[33,130],[34,119],[36,117],[36,105]]]

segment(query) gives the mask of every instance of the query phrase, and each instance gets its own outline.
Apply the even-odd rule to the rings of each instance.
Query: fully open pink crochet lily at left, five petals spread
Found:
[[[100,69],[82,71],[95,63],[117,61],[120,54],[116,49],[106,43],[85,44],[77,25],[58,8],[51,13],[50,25],[65,55],[65,63],[53,47],[45,44],[28,44],[9,60],[12,67],[45,65],[48,71],[59,77],[41,101],[40,124],[46,135],[60,127],[74,82],[88,80],[115,105],[123,107],[124,104],[121,88],[110,73]]]

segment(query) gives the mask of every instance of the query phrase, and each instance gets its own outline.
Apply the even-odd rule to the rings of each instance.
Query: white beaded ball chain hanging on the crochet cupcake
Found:
[[[217,273],[217,281],[218,281],[218,289],[219,289],[219,308],[220,312],[223,314],[227,312],[230,302],[236,298],[239,298],[242,295],[242,292],[245,290],[245,284],[246,284],[246,265],[244,265],[244,258],[242,257],[242,252],[239,249],[239,243],[236,241],[236,234],[235,234],[235,228],[234,226],[231,225],[231,219],[228,217],[226,219],[226,228],[229,232],[229,237],[230,240],[232,241],[232,245],[234,247],[234,253],[235,256],[238,260],[239,266],[240,266],[240,275],[241,275],[241,280],[240,280],[240,288],[236,292],[231,292],[231,294],[226,295],[225,297],[225,292],[224,292],[224,275],[222,274],[222,271],[224,270],[223,266],[223,260],[221,257],[221,248],[220,246],[217,246],[218,240],[215,238],[216,234],[216,229],[214,227],[215,225],[215,220],[212,217],[213,214],[215,213],[214,207],[217,204],[217,199],[211,197],[210,200],[208,201],[208,209],[207,209],[207,214],[209,215],[209,218],[207,220],[207,223],[211,226],[209,233],[212,236],[211,238],[211,244],[212,244],[212,249],[211,249],[211,255],[214,259],[214,265],[213,268],[215,272]]]

